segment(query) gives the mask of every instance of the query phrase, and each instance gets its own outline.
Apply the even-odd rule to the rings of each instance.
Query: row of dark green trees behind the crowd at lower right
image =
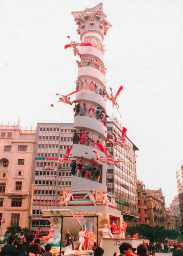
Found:
[[[149,225],[136,225],[127,228],[127,233],[133,236],[135,233],[142,235],[144,239],[149,239],[151,242],[158,241],[164,242],[165,238],[177,239],[179,236],[179,231],[176,230],[166,230],[163,227],[151,227]]]

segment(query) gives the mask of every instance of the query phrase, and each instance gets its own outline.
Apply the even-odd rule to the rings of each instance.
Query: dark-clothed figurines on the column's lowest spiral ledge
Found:
[[[91,167],[91,163],[93,163]],[[95,159],[91,159],[91,161],[84,165],[82,159],[80,159],[77,163],[76,160],[73,159],[71,163],[71,173],[72,175],[76,175],[82,178],[86,178],[92,181],[101,182],[102,178],[102,166],[96,168]]]

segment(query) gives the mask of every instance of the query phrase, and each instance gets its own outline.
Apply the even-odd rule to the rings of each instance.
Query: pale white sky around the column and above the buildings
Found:
[[[96,0],[0,1],[0,121],[36,128],[73,122],[72,107],[50,103],[74,90],[77,57],[64,50],[67,35],[79,42],[71,11]],[[107,87],[118,98],[127,136],[140,149],[137,176],[146,188],[162,187],[166,205],[177,194],[175,170],[183,145],[183,1],[104,0],[112,24],[104,39]],[[108,103],[108,113],[112,113]]]

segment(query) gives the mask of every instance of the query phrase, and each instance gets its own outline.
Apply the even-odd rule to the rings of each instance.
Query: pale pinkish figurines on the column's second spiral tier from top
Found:
[[[80,59],[81,59],[81,61],[76,60],[78,68],[92,67],[92,68],[98,69],[103,75],[106,74],[107,68],[105,68],[102,61],[100,61],[96,57],[90,57],[88,55],[80,55]]]

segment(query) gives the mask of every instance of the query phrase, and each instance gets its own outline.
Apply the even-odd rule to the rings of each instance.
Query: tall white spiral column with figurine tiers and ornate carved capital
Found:
[[[82,80],[83,83],[79,84],[81,91],[76,93],[75,100],[76,106],[80,105],[80,108],[82,108],[84,103],[86,111],[83,114],[80,109],[80,112],[74,117],[73,126],[74,129],[80,131],[80,139],[77,144],[73,144],[72,148],[72,154],[76,157],[76,162],[81,159],[84,165],[87,166],[92,158],[96,158],[96,154],[93,151],[96,151],[99,157],[106,157],[95,143],[99,142],[105,146],[105,139],[107,137],[106,68],[103,61],[103,39],[112,25],[107,21],[107,15],[103,13],[102,3],[94,8],[86,8],[84,11],[72,12],[72,14],[76,25],[78,25],[77,33],[80,35],[81,42],[92,44],[92,46],[81,46],[81,64],[78,67],[77,79],[79,81]],[[93,140],[95,143],[92,143]],[[91,168],[92,165],[93,163],[91,162]],[[86,173],[82,174],[82,177],[81,175],[72,175],[71,190],[73,196],[77,195],[77,197],[75,197],[74,201],[69,202],[68,206],[86,205],[85,202],[88,205],[89,198],[86,200],[81,199],[83,195],[89,193],[90,189],[107,190],[107,163],[96,166],[97,169],[100,167],[102,167],[101,177],[96,173],[93,180],[91,177],[90,179],[87,177],[87,167]],[[92,174],[92,170],[90,173]]]

